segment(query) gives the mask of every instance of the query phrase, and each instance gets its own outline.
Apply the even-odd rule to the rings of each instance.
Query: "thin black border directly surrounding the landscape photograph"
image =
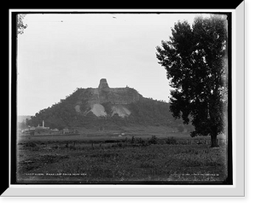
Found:
[[[73,182],[73,181],[66,181],[62,184],[143,184],[143,185],[152,185],[152,184],[172,184],[172,185],[232,185],[233,184],[233,153],[232,153],[232,39],[231,39],[231,13],[228,12],[13,12],[12,15],[12,53],[11,53],[11,61],[12,61],[12,78],[11,78],[11,165],[10,165],[10,183],[11,184],[50,184],[50,185],[60,185],[60,182],[17,182],[16,180],[16,130],[17,130],[17,27],[16,27],[16,17],[17,14],[226,14],[228,17],[228,79],[229,79],[229,89],[228,89],[228,177],[224,182],[153,182],[153,181],[126,181],[126,182],[119,182],[119,181],[91,181],[91,182]]]

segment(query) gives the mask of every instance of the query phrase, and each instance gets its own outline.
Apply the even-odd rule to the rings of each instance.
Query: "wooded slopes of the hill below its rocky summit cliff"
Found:
[[[128,92],[135,93],[131,90]],[[137,101],[127,104],[114,103],[111,99],[101,104],[93,104],[91,97],[93,95],[90,88],[77,89],[66,99],[36,113],[27,124],[38,126],[44,120],[44,124],[51,129],[84,127],[99,130],[116,129],[129,125],[164,125],[177,129],[183,126],[181,120],[175,120],[172,117],[169,112],[169,104],[163,101],[155,101],[140,96]],[[121,97],[119,97],[120,99]],[[92,109],[94,105],[102,106],[101,109],[105,116],[96,116]],[[127,114],[119,113],[119,110],[124,109]]]

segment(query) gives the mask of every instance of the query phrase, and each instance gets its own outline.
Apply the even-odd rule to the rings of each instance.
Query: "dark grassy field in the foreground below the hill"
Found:
[[[25,183],[223,182],[227,176],[225,143],[210,148],[208,137],[115,133],[105,137],[88,133],[20,138],[17,180]]]

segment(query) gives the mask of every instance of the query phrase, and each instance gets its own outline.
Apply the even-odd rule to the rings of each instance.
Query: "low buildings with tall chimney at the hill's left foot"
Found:
[[[67,134],[73,134],[77,133],[75,130],[69,130],[68,128],[65,128],[63,130],[58,129],[49,129],[49,127],[44,126],[44,120],[43,125],[40,126],[38,124],[37,127],[28,127],[25,130],[20,131],[21,136],[54,136],[54,135],[67,135]]]

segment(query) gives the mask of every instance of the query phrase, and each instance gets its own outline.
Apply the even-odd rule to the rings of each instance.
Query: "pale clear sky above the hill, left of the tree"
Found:
[[[17,41],[18,115],[34,115],[71,95],[128,85],[144,97],[169,101],[166,70],[156,46],[178,20],[201,14],[26,14]],[[206,15],[206,14],[205,14]]]

